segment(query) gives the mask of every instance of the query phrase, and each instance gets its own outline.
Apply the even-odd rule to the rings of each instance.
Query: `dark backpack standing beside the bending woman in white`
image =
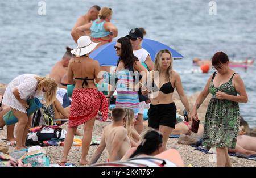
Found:
[[[49,117],[46,113],[44,113],[44,109],[40,108],[36,111],[32,117],[32,128],[36,126],[44,126],[44,125],[56,125],[55,121]]]

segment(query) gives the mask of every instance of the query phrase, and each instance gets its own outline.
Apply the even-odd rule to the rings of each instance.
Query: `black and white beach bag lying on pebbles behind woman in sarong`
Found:
[[[38,141],[48,141],[50,139],[64,139],[67,131],[64,129],[55,129],[48,126],[42,127],[41,130],[36,132],[38,136]]]

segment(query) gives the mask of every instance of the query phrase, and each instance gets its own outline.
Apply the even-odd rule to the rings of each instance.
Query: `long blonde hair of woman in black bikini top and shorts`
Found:
[[[154,63],[154,72],[158,71],[160,74],[160,63],[162,62],[162,54],[163,53],[168,53],[170,54],[171,57],[171,63],[170,66],[168,67],[167,71],[166,71],[166,75],[165,77],[168,78],[169,80],[172,78],[172,63],[173,63],[173,58],[172,58],[172,53],[170,52],[170,50],[168,49],[163,49],[163,50],[159,50],[159,52],[156,54],[155,56],[155,63]],[[153,75],[153,81],[154,81],[154,75]]]

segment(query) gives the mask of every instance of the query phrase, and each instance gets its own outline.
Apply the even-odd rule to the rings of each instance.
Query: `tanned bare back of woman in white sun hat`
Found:
[[[68,65],[68,78],[86,78],[87,85],[82,85],[84,80],[76,79],[75,89],[79,88],[95,88],[97,89],[94,79],[97,78],[98,72],[100,71],[100,65],[95,60],[85,56],[72,58]]]

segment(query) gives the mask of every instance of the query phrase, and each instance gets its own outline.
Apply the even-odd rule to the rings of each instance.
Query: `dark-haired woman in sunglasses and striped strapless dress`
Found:
[[[134,117],[137,118],[139,112],[138,85],[134,85],[133,74],[129,70],[129,67],[133,66],[133,71],[138,71],[142,75],[142,81],[146,81],[147,69],[134,56],[131,42],[126,37],[118,39],[114,48],[119,56],[117,72],[115,74],[115,77],[118,79],[115,105],[116,107],[133,109]],[[110,100],[110,96],[113,93],[114,91],[109,92],[108,100]]]

